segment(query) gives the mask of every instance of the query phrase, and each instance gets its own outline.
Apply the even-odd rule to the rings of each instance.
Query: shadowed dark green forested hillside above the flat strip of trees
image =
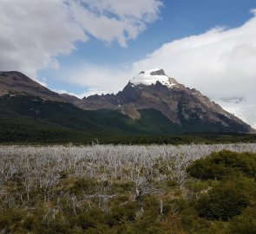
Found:
[[[132,120],[117,110],[86,111],[67,102],[6,94],[0,98],[0,142],[88,143],[99,137],[183,133],[157,110],[140,115]]]

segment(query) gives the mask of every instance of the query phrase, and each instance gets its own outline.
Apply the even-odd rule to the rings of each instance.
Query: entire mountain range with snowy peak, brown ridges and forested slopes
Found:
[[[142,71],[118,94],[82,100],[52,92],[22,73],[0,72],[0,142],[204,132],[254,130],[162,69]]]

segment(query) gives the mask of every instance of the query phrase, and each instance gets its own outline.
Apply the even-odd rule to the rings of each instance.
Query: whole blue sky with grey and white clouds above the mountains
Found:
[[[256,100],[255,0],[0,0],[0,70],[56,92],[120,91],[142,70]]]

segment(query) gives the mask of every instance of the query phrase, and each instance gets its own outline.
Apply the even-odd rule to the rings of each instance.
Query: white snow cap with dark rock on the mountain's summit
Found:
[[[161,82],[162,85],[165,85],[168,88],[172,88],[177,84],[174,78],[168,77],[162,68],[141,71],[140,74],[135,76],[135,78],[130,82],[134,85],[152,85],[156,84],[157,81]]]

